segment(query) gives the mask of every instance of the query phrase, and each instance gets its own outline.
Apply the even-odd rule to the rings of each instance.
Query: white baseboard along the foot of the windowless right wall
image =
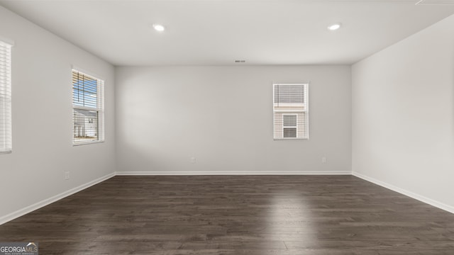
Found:
[[[429,204],[429,205],[432,205],[432,206],[435,206],[436,208],[440,208],[442,210],[454,213],[454,207],[453,206],[446,205],[445,203],[438,202],[437,200],[433,200],[431,198],[426,198],[425,196],[421,196],[421,195],[419,195],[417,193],[414,193],[414,192],[411,192],[411,191],[407,191],[407,190],[405,190],[403,188],[398,188],[397,186],[394,186],[392,184],[385,183],[384,181],[379,181],[377,179],[374,179],[374,178],[369,177],[369,176],[365,176],[364,174],[360,174],[360,173],[355,172],[355,171],[352,172],[352,175],[356,176],[356,177],[358,177],[360,179],[363,179],[365,181],[370,181],[371,183],[375,183],[378,186],[382,186],[382,187],[388,188],[388,189],[390,189],[392,191],[396,191],[397,193],[401,193],[401,194],[403,194],[405,196],[409,196],[410,198],[414,198],[416,200],[420,200],[421,202]]]

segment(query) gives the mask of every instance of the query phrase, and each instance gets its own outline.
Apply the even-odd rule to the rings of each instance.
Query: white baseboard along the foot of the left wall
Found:
[[[26,215],[29,212],[33,212],[34,210],[38,210],[39,208],[43,208],[46,205],[50,205],[51,203],[54,203],[57,200],[66,198],[67,196],[71,196],[72,194],[82,191],[85,188],[94,186],[95,184],[100,183],[101,181],[106,181],[107,179],[110,179],[114,176],[115,176],[115,173],[107,174],[106,176],[102,176],[96,180],[82,184],[81,186],[77,186],[76,188],[72,188],[69,191],[62,192],[58,195],[52,196],[51,198],[47,198],[38,203],[34,203],[33,205],[28,205],[26,208],[16,210],[16,212],[11,212],[9,215],[0,217],[0,225],[4,224],[6,222],[9,222],[10,220],[14,220],[18,217],[21,217],[22,215]]]

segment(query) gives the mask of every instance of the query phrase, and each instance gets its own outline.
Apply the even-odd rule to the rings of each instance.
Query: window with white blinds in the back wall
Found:
[[[309,139],[309,84],[273,84],[275,140]]]

